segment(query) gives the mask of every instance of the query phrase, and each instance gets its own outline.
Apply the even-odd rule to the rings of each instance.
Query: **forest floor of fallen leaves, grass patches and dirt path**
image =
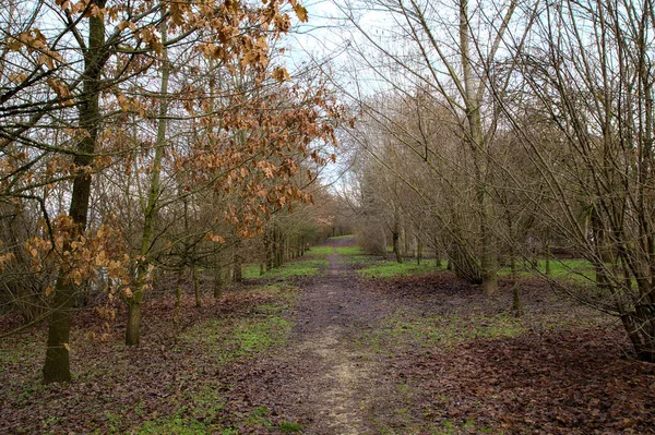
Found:
[[[315,276],[184,299],[177,323],[153,299],[139,348],[123,313],[98,341],[80,311],[70,385],[39,383],[45,326],[2,340],[0,433],[655,433],[655,364],[616,319],[527,278],[519,318],[509,279],[485,298],[448,271],[362,278],[380,261],[352,243],[306,256]]]

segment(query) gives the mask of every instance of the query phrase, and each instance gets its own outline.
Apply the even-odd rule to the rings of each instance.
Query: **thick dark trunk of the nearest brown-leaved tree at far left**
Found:
[[[105,0],[92,0],[92,4],[102,9],[105,7]],[[100,76],[106,62],[105,50],[107,49],[105,47],[104,16],[102,14],[90,16],[88,44],[84,52],[83,94],[78,105],[79,124],[84,131],[84,135],[80,141],[80,153],[75,154],[73,160],[75,167],[81,169],[73,179],[73,192],[69,210],[69,215],[76,226],[73,240],[79,239],[86,229],[92,179],[91,174],[83,171],[82,168],[93,166],[100,124]],[[69,243],[67,243],[64,250],[70,250]],[[68,277],[67,271],[60,269],[59,278],[55,285],[52,316],[48,328],[46,361],[43,370],[44,384],[71,380],[69,335],[74,292],[74,283]]]

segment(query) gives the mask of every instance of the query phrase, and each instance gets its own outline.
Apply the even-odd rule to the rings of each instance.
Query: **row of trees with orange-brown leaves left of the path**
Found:
[[[50,318],[44,382],[70,380],[73,306],[96,277],[133,346],[160,270],[239,279],[245,240],[314,237],[310,206],[315,223],[281,228],[341,114],[319,74],[282,65],[290,13],[307,20],[295,0],[2,3],[1,283]]]

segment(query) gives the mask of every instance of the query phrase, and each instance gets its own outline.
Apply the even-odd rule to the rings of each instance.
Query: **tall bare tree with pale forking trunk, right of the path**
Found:
[[[361,24],[360,10],[384,14],[381,32],[384,38]],[[383,81],[391,92],[407,98],[433,96],[456,120],[456,134],[473,162],[469,184],[475,191],[480,243],[479,262],[483,289],[497,290],[498,243],[496,206],[492,197],[493,157],[491,140],[498,126],[498,111],[490,94],[492,65],[501,57],[501,43],[516,13],[517,2],[370,1],[343,8],[345,16],[360,35],[352,51],[358,62]],[[366,17],[366,14],[364,15]],[[456,25],[453,25],[456,22]],[[371,57],[370,51],[378,53]],[[360,100],[361,101],[361,100]],[[417,141],[403,144],[418,155],[424,154],[425,137],[420,130],[407,132]],[[467,254],[465,257],[471,258]]]

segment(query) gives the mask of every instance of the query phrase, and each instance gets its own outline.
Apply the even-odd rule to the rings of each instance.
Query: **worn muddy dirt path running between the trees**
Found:
[[[350,243],[332,241],[334,247]],[[357,345],[383,310],[359,289],[352,267],[336,253],[330,267],[303,289],[296,326],[284,354],[259,361],[245,400],[301,422],[305,434],[372,434],[367,426],[378,379],[377,363]],[[243,379],[246,380],[246,379]]]

